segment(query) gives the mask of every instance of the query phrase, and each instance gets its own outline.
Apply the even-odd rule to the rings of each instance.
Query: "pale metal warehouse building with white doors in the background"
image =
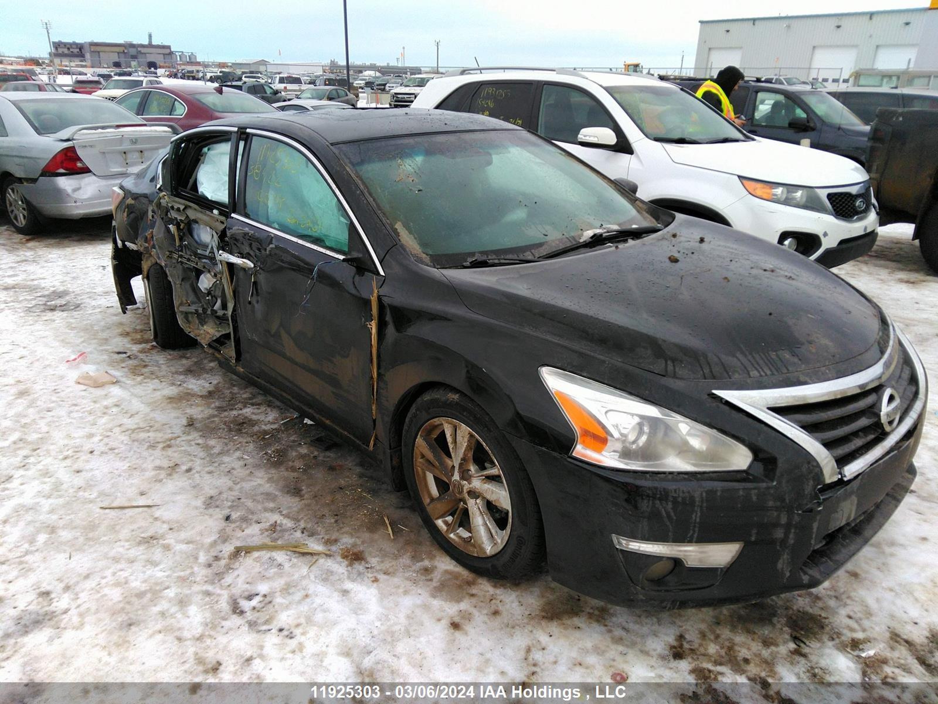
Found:
[[[848,83],[856,69],[938,69],[938,0],[930,8],[703,20],[694,72],[729,64],[750,75]]]

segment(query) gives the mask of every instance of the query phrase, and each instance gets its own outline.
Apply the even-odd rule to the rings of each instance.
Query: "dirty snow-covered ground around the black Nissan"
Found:
[[[356,451],[120,314],[108,222],[57,229],[0,221],[0,681],[938,678],[934,387],[912,495],[824,587],[614,608],[461,570]],[[909,228],[838,271],[938,378],[938,277]],[[98,370],[117,383],[75,383]],[[99,508],[126,504],[157,505]],[[233,550],[263,542],[331,552]]]

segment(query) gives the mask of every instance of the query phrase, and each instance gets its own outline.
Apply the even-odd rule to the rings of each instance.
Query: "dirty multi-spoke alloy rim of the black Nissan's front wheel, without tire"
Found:
[[[511,532],[511,498],[492,452],[468,425],[434,418],[414,443],[414,475],[433,523],[463,552],[490,558]]]

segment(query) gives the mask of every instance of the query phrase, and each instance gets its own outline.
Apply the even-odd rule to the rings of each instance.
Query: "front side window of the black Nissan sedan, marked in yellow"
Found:
[[[316,167],[292,146],[251,138],[244,202],[251,220],[348,253],[348,216]]]

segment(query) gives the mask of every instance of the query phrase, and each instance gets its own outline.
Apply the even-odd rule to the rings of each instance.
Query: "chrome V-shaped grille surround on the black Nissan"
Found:
[[[915,348],[908,338],[891,322],[889,323],[889,333],[889,346],[883,358],[869,369],[857,372],[854,375],[819,384],[807,384],[784,389],[714,390],[713,392],[734,406],[743,409],[749,415],[775,428],[783,436],[789,437],[808,451],[821,466],[825,483],[835,482],[839,477],[845,480],[852,479],[890,451],[900,438],[915,425],[925,406],[925,399],[928,394],[925,368],[922,366],[921,360],[918,359]],[[825,449],[824,445],[794,423],[786,421],[769,410],[769,408],[776,406],[798,406],[806,403],[829,401],[858,391],[871,389],[892,374],[896,362],[899,360],[899,345],[905,350],[912,363],[913,372],[918,383],[918,395],[906,410],[905,416],[899,425],[885,436],[882,442],[846,467],[839,470],[837,461]]]

